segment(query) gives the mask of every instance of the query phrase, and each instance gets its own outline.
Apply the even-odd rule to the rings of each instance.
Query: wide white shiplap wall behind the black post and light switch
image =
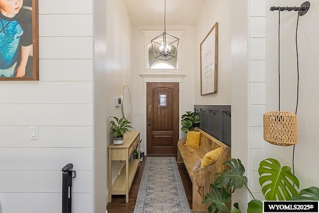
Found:
[[[1,213],[93,212],[93,0],[39,0],[39,81],[0,82]],[[39,140],[30,140],[38,126]]]

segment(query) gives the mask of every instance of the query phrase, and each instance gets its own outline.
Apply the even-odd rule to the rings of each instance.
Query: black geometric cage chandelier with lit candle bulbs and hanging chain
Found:
[[[166,33],[166,0],[164,0],[164,32],[151,41],[154,57],[164,61],[174,58],[178,41],[178,38]]]

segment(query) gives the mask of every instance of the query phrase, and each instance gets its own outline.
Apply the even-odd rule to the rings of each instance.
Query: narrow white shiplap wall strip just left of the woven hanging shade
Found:
[[[265,0],[249,2],[249,187],[256,199],[264,200],[258,182],[259,162],[265,157]]]

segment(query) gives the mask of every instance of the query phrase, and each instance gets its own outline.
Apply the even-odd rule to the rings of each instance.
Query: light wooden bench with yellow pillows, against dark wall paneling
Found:
[[[214,182],[215,173],[223,172],[224,161],[231,159],[231,149],[197,127],[194,128],[194,131],[201,133],[199,149],[185,146],[186,138],[180,139],[177,142],[177,163],[184,163],[192,182],[192,212],[207,212],[209,204],[201,202],[205,199],[206,193],[210,191],[210,184]],[[203,158],[207,152],[219,147],[223,147],[223,152],[216,163],[192,171],[199,159]]]

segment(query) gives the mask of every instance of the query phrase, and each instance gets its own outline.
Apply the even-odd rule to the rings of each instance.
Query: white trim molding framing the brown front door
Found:
[[[143,138],[145,143],[143,144],[144,147],[144,153],[145,155],[147,155],[147,122],[146,122],[146,113],[147,113],[147,109],[146,109],[146,91],[147,91],[147,87],[146,84],[147,83],[178,83],[178,101],[179,101],[179,109],[178,109],[178,116],[181,116],[181,103],[182,103],[182,79],[185,76],[185,74],[180,74],[180,73],[141,73],[140,76],[143,77]],[[179,129],[181,128],[181,124],[179,122]],[[181,131],[178,131],[178,137],[181,137]],[[142,142],[143,143],[143,142]]]

